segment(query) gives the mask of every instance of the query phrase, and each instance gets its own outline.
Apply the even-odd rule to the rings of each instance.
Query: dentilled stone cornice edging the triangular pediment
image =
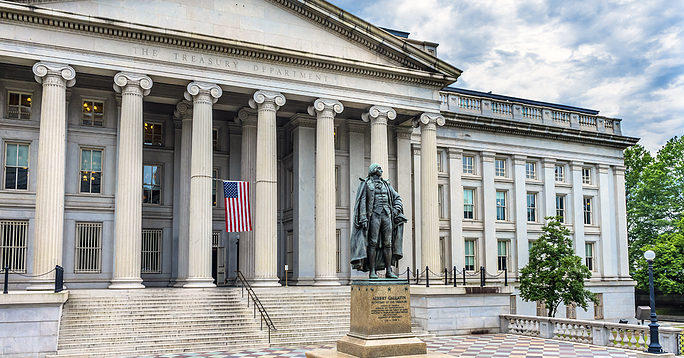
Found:
[[[362,34],[363,31],[355,28],[347,28],[349,25],[335,25],[333,23],[339,22],[339,20],[328,15],[314,14],[314,7],[309,4],[302,4],[291,0],[271,1],[290,9],[290,11],[300,13],[323,26],[336,30],[356,42],[361,39],[360,34]],[[264,44],[237,41],[218,36],[134,24],[119,20],[61,12],[59,10],[40,8],[34,5],[10,4],[7,2],[0,3],[0,22],[19,22],[26,24],[26,26],[47,28],[49,31],[62,30],[82,32],[91,36],[106,37],[109,39],[119,38],[127,42],[134,41],[138,43],[147,43],[148,45],[158,44],[162,46],[183,48],[189,51],[203,51],[239,58],[276,62],[330,72],[349,73],[356,76],[376,77],[390,81],[415,83],[439,88],[443,88],[455,82],[456,78],[461,73],[460,70],[455,68],[456,72],[451,71],[454,73],[449,74],[442,72],[439,69],[435,69],[435,66],[433,66],[433,68],[430,68],[429,66],[426,67],[429,64],[427,61],[423,61],[423,68],[420,68],[421,66],[418,65],[410,66],[408,63],[403,63],[402,61],[399,62],[405,67],[383,66],[347,60],[340,57],[311,54],[303,51],[284,50]],[[382,31],[379,28],[373,28],[377,29],[377,31]],[[373,30],[373,32],[374,35],[377,35],[375,34],[376,30]],[[393,37],[389,33],[385,34],[385,36],[387,38]],[[385,56],[389,53],[396,52],[396,56],[394,57],[400,59],[411,57],[406,56],[407,54],[401,51],[397,52],[396,49],[390,48],[388,46],[389,42],[383,42],[383,40],[387,39],[379,37],[373,41],[368,40],[367,44],[362,44],[370,50],[379,52]],[[396,45],[394,47],[396,47]],[[418,52],[421,51],[417,48],[414,49],[413,46],[408,43],[406,43],[405,48],[409,49],[408,51],[414,53],[414,55],[417,55]],[[403,50],[405,49],[402,49],[402,51]],[[427,53],[425,55],[430,56]],[[451,67],[434,56],[432,56],[432,60],[434,63],[441,64],[439,67]]]

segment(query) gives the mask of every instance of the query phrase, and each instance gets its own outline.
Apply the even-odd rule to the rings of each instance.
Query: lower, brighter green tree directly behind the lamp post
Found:
[[[658,236],[656,243],[641,248],[641,257],[637,261],[634,279],[637,288],[647,291],[648,263],[643,252],[653,250],[656,258],[653,261],[653,286],[664,294],[684,294],[684,219],[679,222],[679,230]]]

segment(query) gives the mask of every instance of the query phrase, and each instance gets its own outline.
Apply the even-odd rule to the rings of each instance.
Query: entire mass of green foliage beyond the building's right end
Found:
[[[676,266],[676,260],[666,259],[681,246],[678,238],[684,235],[684,137],[667,141],[655,157],[640,145],[627,148],[625,191],[630,270],[638,287],[648,289],[643,253],[650,249],[658,255],[656,289],[684,293],[684,275],[672,276],[681,272],[681,263]]]

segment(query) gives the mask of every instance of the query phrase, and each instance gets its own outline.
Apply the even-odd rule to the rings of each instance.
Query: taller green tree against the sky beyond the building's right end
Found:
[[[663,234],[682,231],[677,223],[684,216],[684,137],[671,138],[655,157],[640,145],[624,154],[629,261],[634,274],[641,267],[645,247],[669,237]]]

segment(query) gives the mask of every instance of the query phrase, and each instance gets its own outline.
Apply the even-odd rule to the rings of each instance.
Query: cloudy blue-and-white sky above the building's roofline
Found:
[[[331,2],[439,43],[452,86],[599,110],[654,154],[684,135],[684,1]]]

